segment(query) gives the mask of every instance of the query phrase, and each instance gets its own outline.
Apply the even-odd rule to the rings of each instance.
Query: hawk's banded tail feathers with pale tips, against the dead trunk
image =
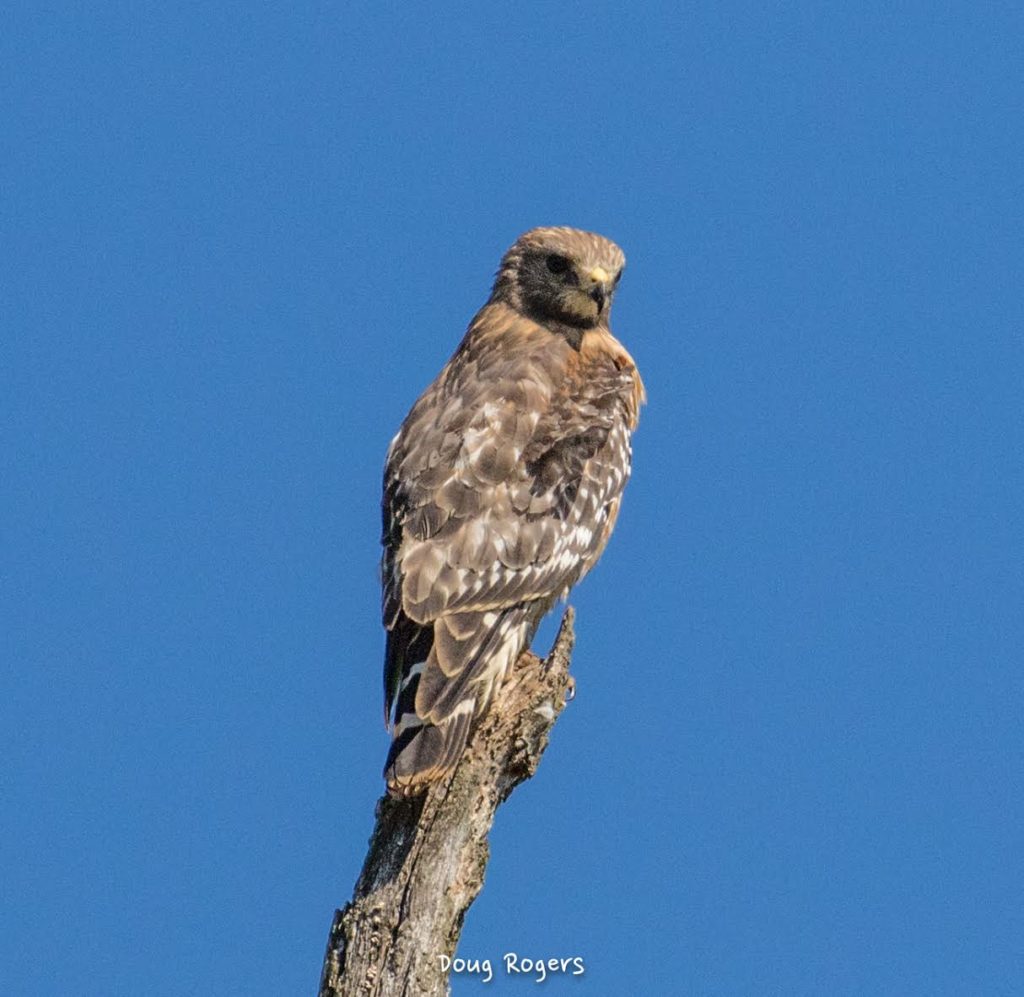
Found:
[[[434,621],[426,661],[409,670],[398,690],[394,738],[384,765],[388,792],[414,795],[455,769],[474,719],[519,656],[526,630],[521,606]]]

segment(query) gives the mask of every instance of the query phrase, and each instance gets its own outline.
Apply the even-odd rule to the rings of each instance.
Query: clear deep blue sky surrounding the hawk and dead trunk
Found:
[[[1019,992],[1019,8],[89,6],[0,33],[0,992],[314,990],[384,451],[539,224],[650,401],[460,954]]]

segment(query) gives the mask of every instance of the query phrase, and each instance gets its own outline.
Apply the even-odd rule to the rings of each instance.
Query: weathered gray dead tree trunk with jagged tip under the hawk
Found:
[[[319,997],[440,997],[483,885],[495,812],[537,771],[571,690],[572,609],[551,653],[529,651],[471,735],[452,777],[412,799],[383,796],[352,900],[335,912]]]

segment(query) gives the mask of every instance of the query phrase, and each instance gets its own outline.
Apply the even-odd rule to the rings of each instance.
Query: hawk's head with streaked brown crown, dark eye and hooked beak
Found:
[[[490,295],[542,324],[608,323],[626,256],[610,240],[577,228],[531,228],[502,258]]]

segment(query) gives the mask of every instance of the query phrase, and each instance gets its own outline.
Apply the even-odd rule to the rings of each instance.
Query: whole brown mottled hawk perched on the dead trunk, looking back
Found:
[[[401,424],[384,471],[384,775],[424,790],[459,761],[541,617],[601,556],[643,384],[608,330],[626,258],[535,228]]]

